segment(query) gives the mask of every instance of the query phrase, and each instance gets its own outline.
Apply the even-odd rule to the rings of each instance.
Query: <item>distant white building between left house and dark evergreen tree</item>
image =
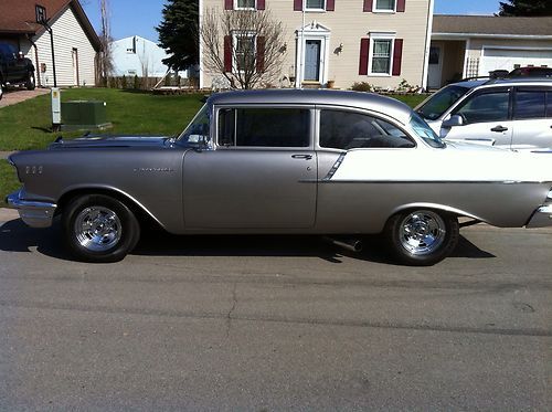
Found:
[[[162,77],[169,70],[162,63],[168,54],[148,39],[132,35],[112,43],[115,76]],[[187,72],[179,73],[187,77]]]

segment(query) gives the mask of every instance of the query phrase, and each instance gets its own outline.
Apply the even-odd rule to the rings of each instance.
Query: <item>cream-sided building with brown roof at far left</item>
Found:
[[[54,85],[52,29],[57,86],[96,84],[96,55],[99,39],[78,0],[1,0],[0,41],[13,44],[36,70],[36,83]]]

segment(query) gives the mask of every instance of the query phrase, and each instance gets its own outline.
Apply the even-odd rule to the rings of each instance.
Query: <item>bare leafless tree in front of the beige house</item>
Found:
[[[232,88],[273,82],[286,52],[283,33],[268,10],[209,9],[199,31],[205,68],[222,74]]]

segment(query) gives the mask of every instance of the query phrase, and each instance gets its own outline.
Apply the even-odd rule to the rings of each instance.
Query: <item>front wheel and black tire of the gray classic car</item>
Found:
[[[138,243],[140,225],[128,207],[104,194],[75,198],[64,208],[63,234],[78,260],[121,261]]]

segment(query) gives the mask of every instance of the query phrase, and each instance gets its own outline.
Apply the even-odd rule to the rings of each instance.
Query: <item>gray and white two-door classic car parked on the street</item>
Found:
[[[176,138],[61,140],[10,162],[21,219],[60,214],[92,262],[125,257],[147,220],[176,234],[383,233],[412,265],[450,254],[459,216],[552,225],[552,154],[444,144],[406,105],[364,93],[216,94]]]

